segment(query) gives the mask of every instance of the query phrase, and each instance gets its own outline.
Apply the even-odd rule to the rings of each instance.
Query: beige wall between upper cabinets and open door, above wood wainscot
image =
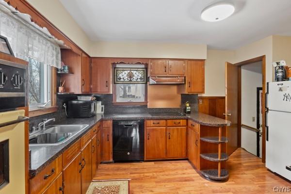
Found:
[[[225,63],[234,60],[234,51],[207,50],[205,61],[205,94],[199,96],[225,96]]]

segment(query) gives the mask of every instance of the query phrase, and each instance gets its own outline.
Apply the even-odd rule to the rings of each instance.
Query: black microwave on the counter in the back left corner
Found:
[[[69,118],[86,118],[96,113],[96,100],[70,100],[67,114]]]

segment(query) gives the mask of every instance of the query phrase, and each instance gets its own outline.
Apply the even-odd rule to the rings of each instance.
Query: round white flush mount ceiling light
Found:
[[[216,3],[206,7],[201,12],[201,19],[205,21],[221,21],[234,13],[234,6],[230,3]]]

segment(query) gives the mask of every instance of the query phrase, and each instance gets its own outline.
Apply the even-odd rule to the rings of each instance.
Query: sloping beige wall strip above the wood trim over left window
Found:
[[[89,54],[90,40],[59,0],[27,0],[51,23]]]

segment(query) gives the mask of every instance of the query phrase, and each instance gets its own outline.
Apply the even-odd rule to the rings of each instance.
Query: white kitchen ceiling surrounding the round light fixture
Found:
[[[291,0],[226,0],[236,11],[200,19],[221,0],[60,0],[92,41],[207,44],[236,49],[269,35],[291,35]],[[225,1],[225,0],[224,0]]]

